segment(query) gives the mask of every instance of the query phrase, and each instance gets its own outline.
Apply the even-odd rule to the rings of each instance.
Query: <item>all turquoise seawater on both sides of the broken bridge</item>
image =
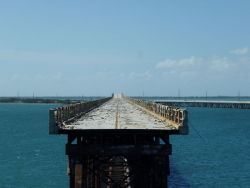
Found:
[[[66,136],[48,135],[47,104],[0,104],[0,188],[68,188]],[[250,110],[188,108],[171,136],[170,188],[250,187]]]

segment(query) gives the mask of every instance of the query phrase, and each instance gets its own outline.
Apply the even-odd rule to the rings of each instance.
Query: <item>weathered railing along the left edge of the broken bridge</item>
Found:
[[[57,134],[58,129],[62,128],[64,123],[75,121],[83,114],[107,102],[110,98],[111,97],[50,109],[49,133]]]

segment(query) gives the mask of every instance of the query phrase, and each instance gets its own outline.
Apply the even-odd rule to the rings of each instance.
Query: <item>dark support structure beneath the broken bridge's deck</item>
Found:
[[[168,135],[68,135],[70,188],[167,188]]]

